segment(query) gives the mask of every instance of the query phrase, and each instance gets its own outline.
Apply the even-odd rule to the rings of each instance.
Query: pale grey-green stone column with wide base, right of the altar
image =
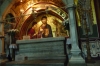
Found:
[[[81,50],[78,47],[78,35],[76,28],[75,18],[75,5],[74,0],[63,0],[65,3],[68,14],[69,14],[69,27],[70,27],[70,38],[71,38],[71,58],[69,59],[69,66],[86,66],[85,60],[81,57]]]

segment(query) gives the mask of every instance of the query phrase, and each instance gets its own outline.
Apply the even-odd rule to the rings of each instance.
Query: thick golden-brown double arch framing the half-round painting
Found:
[[[34,7],[37,7],[36,9],[38,9],[39,5],[40,4],[37,4]],[[17,35],[18,39],[22,39],[24,35],[27,35],[27,31],[29,30],[29,28],[32,27],[32,23],[39,22],[42,15],[46,15],[49,20],[52,20],[52,21],[55,20],[60,25],[62,25],[62,22],[68,18],[67,11],[63,10],[60,7],[57,7],[55,5],[48,4],[48,3],[47,4],[42,3],[41,5],[49,6],[48,10],[46,11],[46,8],[41,8],[41,9],[37,10],[37,13],[34,15],[34,14],[32,14],[32,8],[29,7],[27,10],[25,10],[23,12],[23,15],[20,16],[20,19],[16,24],[16,29],[19,30],[19,33]],[[50,18],[50,17],[52,17],[52,18]],[[54,28],[52,28],[52,29],[54,29]],[[55,30],[53,30],[53,31],[55,31]]]

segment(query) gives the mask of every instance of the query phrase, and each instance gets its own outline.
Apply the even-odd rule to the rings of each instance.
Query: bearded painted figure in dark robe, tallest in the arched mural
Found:
[[[41,21],[42,25],[39,28],[38,35],[41,33],[42,38],[53,37],[51,26],[47,24],[47,17],[43,16]]]

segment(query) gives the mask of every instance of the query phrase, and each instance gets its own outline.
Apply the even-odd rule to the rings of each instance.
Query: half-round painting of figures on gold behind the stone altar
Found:
[[[62,24],[62,20],[53,15],[41,15],[33,21],[28,29],[27,35],[30,39],[48,37],[68,37],[68,30]]]

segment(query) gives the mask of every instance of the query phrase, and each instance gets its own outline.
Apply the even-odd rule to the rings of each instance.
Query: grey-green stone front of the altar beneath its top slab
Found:
[[[63,41],[19,44],[19,51],[17,54],[27,56],[29,60],[66,58]]]

